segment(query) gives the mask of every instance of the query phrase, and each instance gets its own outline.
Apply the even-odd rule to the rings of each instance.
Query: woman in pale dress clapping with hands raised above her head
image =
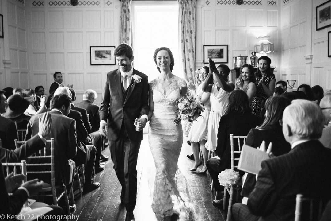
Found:
[[[211,93],[210,104],[211,112],[208,120],[208,149],[215,150],[217,146],[217,131],[219,120],[224,115],[227,105],[227,95],[234,90],[234,84],[229,81],[228,76],[230,69],[226,65],[219,65],[217,68],[215,63],[209,59],[210,72],[207,79],[202,83],[202,90]],[[214,73],[214,84],[210,84],[212,74]]]

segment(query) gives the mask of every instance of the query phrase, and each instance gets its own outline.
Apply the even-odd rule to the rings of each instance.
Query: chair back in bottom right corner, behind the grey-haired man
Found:
[[[328,198],[305,197],[297,194],[295,205],[295,221],[317,221],[321,218]]]

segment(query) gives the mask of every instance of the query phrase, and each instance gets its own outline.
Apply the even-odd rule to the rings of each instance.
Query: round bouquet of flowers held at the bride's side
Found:
[[[187,96],[181,96],[178,101],[178,117],[174,120],[175,124],[179,124],[181,120],[193,122],[201,116],[201,112],[205,109],[204,104],[199,98],[187,93]]]

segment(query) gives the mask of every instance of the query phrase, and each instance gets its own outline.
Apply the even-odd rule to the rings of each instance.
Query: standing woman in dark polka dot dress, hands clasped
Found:
[[[270,71],[271,59],[261,56],[258,59],[258,71],[255,74],[256,93],[252,101],[253,113],[257,116],[261,114],[261,108],[267,98],[273,95],[275,89],[275,75]],[[263,117],[263,116],[261,116]]]

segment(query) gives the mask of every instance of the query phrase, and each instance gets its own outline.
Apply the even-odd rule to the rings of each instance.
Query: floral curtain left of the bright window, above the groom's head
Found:
[[[132,27],[131,27],[131,16],[130,16],[130,3],[131,0],[121,1],[119,44],[127,43],[132,47],[133,39],[132,39]]]

